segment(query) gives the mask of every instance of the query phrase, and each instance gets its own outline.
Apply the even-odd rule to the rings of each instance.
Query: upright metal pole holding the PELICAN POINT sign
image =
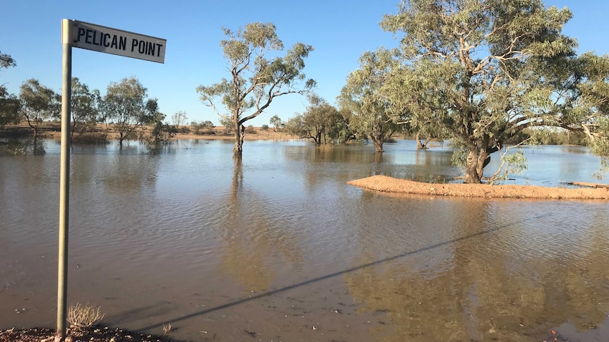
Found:
[[[68,295],[68,217],[70,203],[70,104],[72,93],[72,46],[70,20],[61,20],[61,169],[59,171],[59,263],[57,268],[57,338],[66,335]]]

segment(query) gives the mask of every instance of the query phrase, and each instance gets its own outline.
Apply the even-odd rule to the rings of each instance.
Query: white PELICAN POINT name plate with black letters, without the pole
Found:
[[[72,47],[117,54],[119,56],[165,63],[167,39],[107,28],[102,25],[70,20],[69,42]]]

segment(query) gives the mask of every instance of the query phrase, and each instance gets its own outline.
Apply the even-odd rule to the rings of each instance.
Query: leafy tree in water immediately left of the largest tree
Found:
[[[379,53],[386,51],[379,50]],[[398,123],[386,113],[389,101],[379,92],[382,75],[389,72],[388,68],[376,52],[365,52],[360,58],[360,68],[349,74],[347,85],[338,97],[341,108],[350,114],[350,129],[364,138],[369,137],[377,152],[384,152],[384,141],[398,130]]]

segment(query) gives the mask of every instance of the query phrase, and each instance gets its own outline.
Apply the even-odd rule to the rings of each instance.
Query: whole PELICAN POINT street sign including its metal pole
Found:
[[[61,19],[61,157],[59,171],[59,266],[57,268],[57,333],[66,334],[68,280],[68,216],[70,184],[70,111],[72,92],[72,47],[165,63],[167,40],[107,28],[78,20]]]

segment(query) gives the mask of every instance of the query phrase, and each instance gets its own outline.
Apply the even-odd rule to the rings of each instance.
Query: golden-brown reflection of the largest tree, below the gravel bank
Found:
[[[583,246],[595,242],[585,253],[566,248],[564,254],[564,240],[539,242],[548,237],[524,232],[531,223],[571,222],[566,215],[552,218],[511,202],[407,200],[408,214],[401,216],[409,221],[400,225],[372,216],[386,206],[380,201],[368,197],[361,208],[357,249],[360,260],[386,262],[345,276],[365,310],[377,313],[375,341],[540,341],[563,322],[579,331],[603,324],[609,311],[603,225],[572,227],[569,235],[585,237],[574,248],[587,250]],[[394,201],[388,202],[391,209]],[[439,207],[442,217],[430,216]],[[605,216],[606,207],[589,211]],[[370,228],[380,226],[389,227],[390,235],[377,237],[379,229]],[[406,252],[390,257],[386,251],[396,252],[398,245]],[[555,250],[562,253],[552,255]]]

